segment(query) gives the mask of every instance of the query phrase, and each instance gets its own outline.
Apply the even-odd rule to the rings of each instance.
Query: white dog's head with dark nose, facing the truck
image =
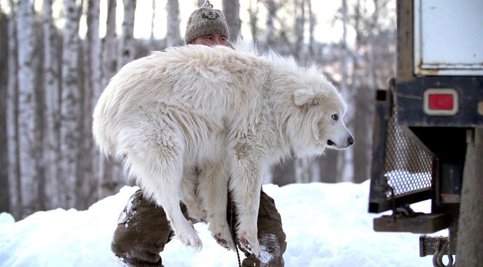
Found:
[[[298,138],[305,147],[299,143],[297,154],[321,154],[326,147],[342,150],[355,143],[344,124],[346,103],[322,75],[312,75],[303,87],[295,89],[293,102],[301,120]]]

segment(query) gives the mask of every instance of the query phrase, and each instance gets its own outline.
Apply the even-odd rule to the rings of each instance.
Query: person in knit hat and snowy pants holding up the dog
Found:
[[[186,27],[186,44],[228,45],[228,37],[225,16],[221,10],[213,9],[209,1],[190,15]],[[229,199],[227,220],[232,229],[237,222],[234,207]],[[190,219],[183,203],[181,209],[185,217]],[[195,223],[193,220],[192,222]],[[258,240],[265,257],[260,261],[255,255],[244,251],[246,259],[242,266],[284,266],[282,255],[286,250],[286,235],[283,233],[281,217],[274,200],[264,192],[260,194],[257,226]],[[145,199],[143,192],[138,190],[131,196],[119,217],[111,249],[129,266],[162,266],[160,252],[173,236],[174,232],[169,226],[165,211]],[[236,240],[235,243],[238,244],[239,241]]]

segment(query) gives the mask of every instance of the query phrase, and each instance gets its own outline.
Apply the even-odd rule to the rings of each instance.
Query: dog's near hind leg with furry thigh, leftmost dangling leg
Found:
[[[201,250],[202,241],[179,205],[184,152],[181,134],[167,124],[150,125],[137,131],[142,136],[126,149],[126,163],[132,175],[144,193],[164,208],[177,238]]]

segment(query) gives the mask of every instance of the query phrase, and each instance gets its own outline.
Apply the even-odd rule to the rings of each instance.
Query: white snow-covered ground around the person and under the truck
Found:
[[[110,250],[111,236],[136,189],[124,187],[88,210],[36,212],[19,222],[1,213],[0,266],[122,266]],[[367,213],[368,181],[263,189],[275,199],[282,216],[287,267],[432,266],[431,257],[419,257],[419,235],[372,230],[372,219],[380,215]],[[427,201],[412,207],[429,211]],[[205,224],[195,227],[203,240],[202,251],[173,240],[161,254],[165,266],[237,266],[235,252],[216,245]]]

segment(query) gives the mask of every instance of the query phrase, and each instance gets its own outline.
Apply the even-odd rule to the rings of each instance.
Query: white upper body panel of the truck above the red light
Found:
[[[414,74],[483,75],[483,0],[414,0]]]

